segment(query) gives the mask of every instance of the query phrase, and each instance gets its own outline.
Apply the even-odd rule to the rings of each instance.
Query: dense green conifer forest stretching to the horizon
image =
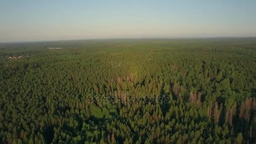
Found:
[[[256,38],[1,43],[0,57],[1,144],[256,143]]]

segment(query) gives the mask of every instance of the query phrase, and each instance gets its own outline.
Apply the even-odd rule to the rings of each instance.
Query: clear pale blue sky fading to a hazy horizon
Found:
[[[256,0],[0,0],[0,42],[255,36]]]

